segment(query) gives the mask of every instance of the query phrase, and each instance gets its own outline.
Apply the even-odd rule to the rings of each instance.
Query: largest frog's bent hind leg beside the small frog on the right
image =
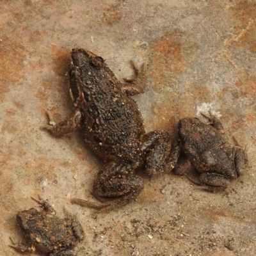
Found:
[[[172,170],[171,144],[171,136],[166,131],[153,131],[145,135],[141,150],[146,153],[146,172],[150,177]]]

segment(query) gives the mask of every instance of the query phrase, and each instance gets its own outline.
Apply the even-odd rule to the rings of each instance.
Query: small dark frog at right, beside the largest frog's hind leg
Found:
[[[246,152],[239,146],[231,147],[223,138],[224,129],[218,118],[212,115],[205,117],[211,120],[211,125],[204,124],[198,118],[182,118],[179,121],[178,147],[177,152],[172,153],[176,156],[172,163],[177,162],[183,150],[187,163],[183,163],[182,168],[194,167],[200,173],[199,182],[189,175],[188,179],[207,186],[210,191],[220,191],[243,173],[247,163]],[[176,173],[180,173],[182,168],[178,165]]]

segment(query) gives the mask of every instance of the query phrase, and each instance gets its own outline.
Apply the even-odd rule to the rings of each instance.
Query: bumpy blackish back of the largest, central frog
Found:
[[[81,58],[80,63],[74,64],[80,72],[76,84],[83,92],[83,99],[79,99],[77,106],[84,118],[86,143],[106,160],[126,157],[132,161],[144,134],[138,106],[122,92],[118,79],[102,58],[92,56],[86,60],[84,55],[82,57],[83,65]]]

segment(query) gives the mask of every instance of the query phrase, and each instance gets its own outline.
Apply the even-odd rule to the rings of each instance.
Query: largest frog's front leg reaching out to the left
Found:
[[[70,132],[75,131],[77,128],[81,127],[82,115],[79,109],[74,109],[70,116],[66,120],[55,124],[51,113],[47,113],[49,116],[50,124],[40,127],[40,129],[46,129],[47,131],[51,131],[55,136],[64,136],[69,134]]]

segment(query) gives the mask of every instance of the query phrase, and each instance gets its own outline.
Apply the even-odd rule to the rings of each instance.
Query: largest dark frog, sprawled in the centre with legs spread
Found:
[[[55,125],[42,128],[55,136],[83,129],[86,144],[106,161],[93,184],[93,195],[114,199],[102,204],[78,198],[72,202],[111,210],[131,202],[143,189],[143,181],[134,175],[136,168],[146,166],[149,176],[170,170],[170,134],[145,134],[140,110],[130,97],[146,86],[145,64],[138,68],[132,61],[136,77],[122,84],[102,57],[84,49],[72,49],[71,57],[68,78],[74,111],[59,124],[49,115]]]

